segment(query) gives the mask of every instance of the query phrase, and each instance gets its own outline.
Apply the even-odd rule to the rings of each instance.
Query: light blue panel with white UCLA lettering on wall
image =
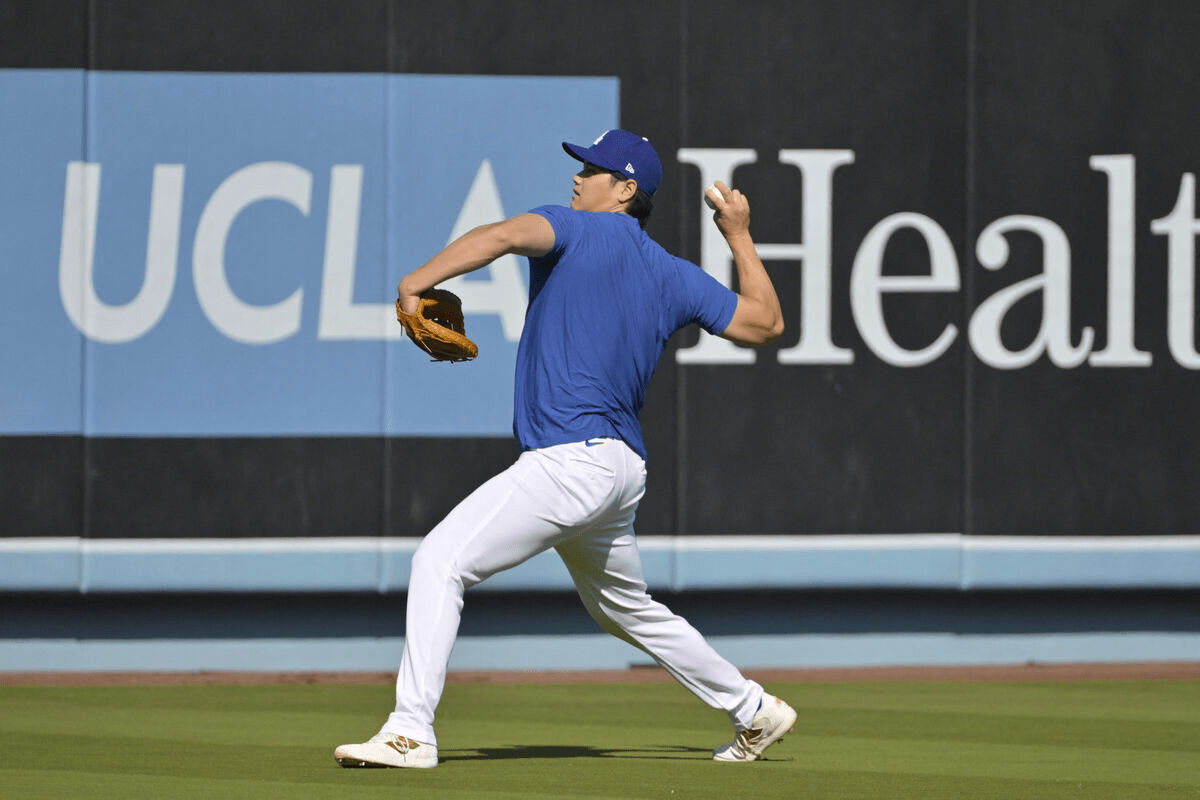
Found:
[[[400,341],[397,281],[570,200],[614,78],[0,71],[0,433],[511,431],[524,265],[449,288],[481,357]]]

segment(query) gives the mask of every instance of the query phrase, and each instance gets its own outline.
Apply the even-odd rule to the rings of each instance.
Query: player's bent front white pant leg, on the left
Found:
[[[607,507],[613,475],[602,464],[572,455],[583,446],[522,453],[421,541],[408,581],[396,710],[383,732],[436,745],[433,720],[458,633],[463,591],[553,547]]]

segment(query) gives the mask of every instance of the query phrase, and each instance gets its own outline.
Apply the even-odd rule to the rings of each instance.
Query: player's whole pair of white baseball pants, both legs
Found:
[[[617,439],[589,439],[521,453],[446,515],[413,555],[396,710],[382,730],[437,744],[433,717],[463,591],[551,547],[604,630],[649,654],[736,729],[749,728],[762,686],[646,591],[634,537],[644,491],[637,453]]]

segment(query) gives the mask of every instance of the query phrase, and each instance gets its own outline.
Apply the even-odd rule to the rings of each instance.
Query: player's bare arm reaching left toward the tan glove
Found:
[[[510,253],[545,255],[553,246],[553,227],[536,213],[473,228],[401,279],[397,287],[401,307],[406,313],[415,313],[420,294],[443,281],[473,272]]]

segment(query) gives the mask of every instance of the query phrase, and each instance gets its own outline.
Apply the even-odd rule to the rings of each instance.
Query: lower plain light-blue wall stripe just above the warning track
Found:
[[[715,636],[709,643],[749,668],[892,667],[1200,661],[1200,634],[842,633]],[[7,639],[0,672],[392,672],[402,637],[296,639]],[[598,634],[461,637],[451,669],[624,669],[647,656]]]

